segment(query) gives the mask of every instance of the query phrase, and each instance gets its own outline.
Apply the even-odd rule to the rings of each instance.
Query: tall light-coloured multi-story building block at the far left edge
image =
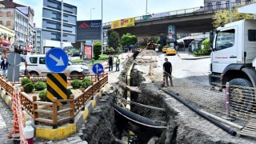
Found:
[[[16,50],[32,50],[34,10],[12,0],[0,1],[0,24],[15,31]]]

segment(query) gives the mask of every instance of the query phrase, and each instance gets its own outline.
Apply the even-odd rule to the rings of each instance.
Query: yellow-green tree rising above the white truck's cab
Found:
[[[254,15],[238,13],[238,9],[234,9],[232,10],[232,18],[233,18],[233,22],[236,22],[242,19],[253,19]],[[213,25],[215,28],[217,28],[218,26],[222,26],[227,23],[230,23],[230,10],[218,10],[214,14],[213,20],[214,20]]]

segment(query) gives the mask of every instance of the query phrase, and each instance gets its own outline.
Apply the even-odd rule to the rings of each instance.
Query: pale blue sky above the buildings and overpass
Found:
[[[36,27],[42,27],[43,0],[14,0],[14,2],[34,9],[34,23]],[[91,14],[92,20],[103,19],[103,23],[145,15],[146,2],[149,14],[203,6],[203,0],[63,0],[63,2],[77,6],[78,21],[90,20]],[[93,8],[94,10],[91,10]]]

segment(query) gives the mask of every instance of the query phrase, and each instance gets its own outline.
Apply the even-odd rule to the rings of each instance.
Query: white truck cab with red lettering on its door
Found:
[[[253,66],[256,58],[255,19],[243,19],[218,27],[210,34],[210,42],[211,85],[219,86],[222,90],[226,82],[242,79],[247,86],[256,87],[256,71]]]

